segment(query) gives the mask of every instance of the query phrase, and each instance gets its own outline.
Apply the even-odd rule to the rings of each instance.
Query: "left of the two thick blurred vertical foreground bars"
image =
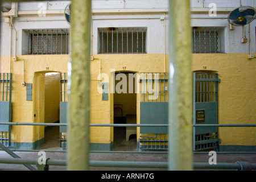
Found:
[[[68,170],[89,170],[91,0],[72,0]]]

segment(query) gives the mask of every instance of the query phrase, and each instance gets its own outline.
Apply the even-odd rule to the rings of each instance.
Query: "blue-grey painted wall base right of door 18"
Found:
[[[256,152],[256,146],[218,146],[220,152]]]

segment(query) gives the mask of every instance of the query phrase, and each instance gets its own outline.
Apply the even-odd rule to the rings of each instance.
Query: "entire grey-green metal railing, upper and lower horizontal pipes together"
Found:
[[[5,122],[0,125],[15,125],[15,126],[68,126],[67,123],[20,123],[20,122]],[[168,124],[90,124],[90,127],[168,127]],[[193,127],[256,127],[256,124],[196,124]],[[30,165],[37,165],[39,170],[48,170],[49,166],[67,166],[67,160],[52,160],[48,159],[45,165],[39,165],[36,159],[20,159],[18,155],[15,155],[13,151],[26,151],[26,152],[38,152],[36,150],[11,150],[5,146],[0,145],[3,151],[13,156],[15,159],[0,158],[2,164],[23,164],[28,169],[35,171],[35,168]],[[46,152],[66,152],[66,151],[46,151]],[[104,152],[104,153],[133,153],[132,151],[90,151],[90,152]],[[164,152],[136,152],[139,154],[163,154]],[[168,152],[165,152],[168,154]],[[204,154],[204,152],[197,152]],[[221,152],[220,152],[221,153]],[[230,152],[228,152],[230,153]],[[235,154],[239,152],[234,152]],[[241,152],[245,154],[246,152]],[[253,152],[248,152],[249,154]],[[126,168],[168,168],[168,162],[127,162],[127,161],[89,161],[90,167],[126,167]],[[217,163],[216,165],[210,165],[209,163],[193,163],[194,169],[237,169],[237,170],[254,170],[256,169],[256,163],[250,164],[247,162],[236,163]]]

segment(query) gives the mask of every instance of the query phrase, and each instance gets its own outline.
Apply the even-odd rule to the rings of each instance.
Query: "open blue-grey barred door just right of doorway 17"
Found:
[[[140,123],[168,124],[168,73],[140,73]],[[140,150],[167,150],[167,127],[141,127]]]

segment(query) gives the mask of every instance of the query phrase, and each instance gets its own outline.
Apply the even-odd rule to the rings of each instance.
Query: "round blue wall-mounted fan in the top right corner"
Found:
[[[245,26],[251,23],[255,18],[255,9],[250,6],[242,6],[231,11],[228,16],[228,21],[234,26]]]

